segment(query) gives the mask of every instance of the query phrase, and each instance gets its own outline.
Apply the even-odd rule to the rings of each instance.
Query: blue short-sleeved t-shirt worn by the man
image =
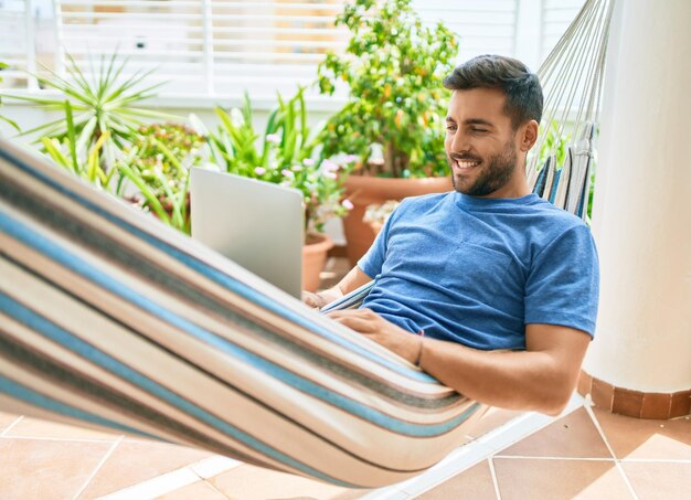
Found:
[[[535,194],[406,199],[358,266],[375,279],[362,307],[435,339],[521,350],[528,323],[595,330],[591,230]]]

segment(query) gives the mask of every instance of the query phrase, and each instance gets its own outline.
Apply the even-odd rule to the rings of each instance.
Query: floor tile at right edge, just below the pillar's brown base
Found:
[[[617,458],[691,459],[691,419],[647,421],[595,409]]]

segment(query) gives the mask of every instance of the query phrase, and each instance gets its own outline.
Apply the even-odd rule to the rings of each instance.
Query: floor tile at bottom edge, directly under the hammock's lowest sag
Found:
[[[243,500],[319,499],[347,500],[371,490],[349,490],[311,479],[253,466],[241,466],[208,480],[223,494]]]

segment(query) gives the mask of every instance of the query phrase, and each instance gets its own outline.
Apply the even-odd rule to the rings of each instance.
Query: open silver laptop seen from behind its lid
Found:
[[[190,212],[194,240],[300,298],[305,231],[300,191],[192,168]]]

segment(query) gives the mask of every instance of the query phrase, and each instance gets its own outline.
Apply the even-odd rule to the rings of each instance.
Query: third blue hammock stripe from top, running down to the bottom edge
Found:
[[[161,386],[155,381],[150,380],[146,375],[130,369],[129,366],[120,363],[116,359],[109,357],[108,354],[99,351],[93,345],[82,341],[81,339],[72,336],[67,331],[63,330],[59,326],[50,322],[45,318],[36,315],[32,310],[25,308],[21,304],[12,300],[7,295],[0,292],[0,310],[6,313],[9,313],[19,322],[25,325],[32,330],[41,333],[42,336],[57,342],[64,348],[86,358],[87,360],[98,364],[100,368],[108,370],[111,373],[115,373],[123,380],[126,380],[134,385],[148,391],[155,396],[163,400],[173,406],[187,412],[190,415],[199,418],[200,421],[209,424],[210,426],[223,432],[227,436],[232,436],[236,440],[258,450],[259,453],[274,458],[277,461],[284,462],[295,469],[301,470],[305,474],[309,474],[310,476],[318,477],[325,481],[332,482],[334,485],[340,485],[348,488],[355,488],[355,485],[343,482],[339,479],[332,478],[330,476],[320,472],[307,465],[304,465],[294,458],[278,451],[275,448],[272,448],[264,443],[255,439],[253,436],[237,429],[236,427],[227,424],[226,422],[220,419],[219,417],[205,412],[203,408],[200,408],[193,403],[184,400],[178,394],[169,391],[168,389]],[[4,391],[4,387],[0,385],[0,389]],[[50,402],[46,402],[47,406],[51,407]],[[42,405],[42,403],[40,403]],[[88,416],[88,415],[86,415]]]

